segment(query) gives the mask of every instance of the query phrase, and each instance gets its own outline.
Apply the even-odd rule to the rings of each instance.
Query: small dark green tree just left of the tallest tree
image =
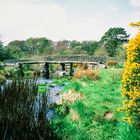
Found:
[[[87,51],[89,55],[93,55],[98,47],[99,43],[97,41],[83,41],[81,43],[81,49]]]

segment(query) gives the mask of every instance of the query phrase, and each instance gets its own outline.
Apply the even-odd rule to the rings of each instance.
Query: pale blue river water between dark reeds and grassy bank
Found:
[[[12,83],[12,80],[6,80],[6,85]],[[53,83],[53,80],[48,80],[45,78],[37,78],[37,86],[39,87],[40,85],[50,85],[49,88],[46,90],[45,93],[38,93],[35,99],[35,104],[34,104],[34,115],[35,115],[35,121],[38,118],[38,114],[40,109],[43,106],[43,98],[47,98],[47,104],[48,106],[47,111],[46,111],[46,119],[50,120],[53,119],[56,116],[55,109],[53,108],[53,105],[60,100],[60,95],[59,93],[62,91],[62,86],[58,86],[57,84]],[[1,86],[1,89],[3,90],[3,86]]]

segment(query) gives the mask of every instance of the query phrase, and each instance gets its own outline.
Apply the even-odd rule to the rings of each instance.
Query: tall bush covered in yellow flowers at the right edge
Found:
[[[140,29],[140,22],[130,26]],[[140,125],[140,33],[129,41],[122,82],[123,107],[118,111],[125,112],[123,120]]]

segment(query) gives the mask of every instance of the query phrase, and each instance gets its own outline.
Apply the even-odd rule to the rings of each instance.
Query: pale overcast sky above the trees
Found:
[[[140,0],[0,0],[3,42],[29,37],[99,40],[110,27],[140,21]]]

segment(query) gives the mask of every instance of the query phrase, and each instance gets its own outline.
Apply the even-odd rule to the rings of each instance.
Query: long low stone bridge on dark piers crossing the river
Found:
[[[24,64],[42,64],[45,68],[46,78],[49,79],[50,71],[49,64],[60,64],[62,66],[62,70],[65,70],[65,65],[70,65],[70,75],[73,75],[73,64],[90,64],[93,67],[98,65],[99,63],[103,63],[105,58],[102,57],[92,57],[92,56],[48,56],[44,60],[12,60],[5,61],[5,66],[18,66],[22,69],[22,65]]]

